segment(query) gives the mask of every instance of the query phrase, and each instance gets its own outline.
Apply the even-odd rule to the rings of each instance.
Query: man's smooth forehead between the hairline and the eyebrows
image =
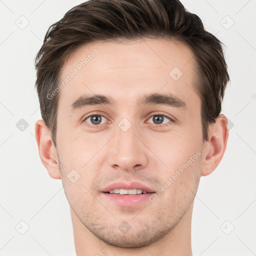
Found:
[[[181,42],[166,39],[98,41],[80,46],[63,65],[59,77],[62,106],[82,94],[110,95],[117,101],[136,95],[171,92],[184,101],[194,92],[195,62]]]

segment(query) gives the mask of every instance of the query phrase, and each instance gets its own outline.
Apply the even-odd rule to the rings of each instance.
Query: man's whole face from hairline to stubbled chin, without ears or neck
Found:
[[[203,149],[194,65],[180,42],[146,39],[86,44],[63,66],[56,147],[64,191],[108,244],[157,241],[192,205]]]

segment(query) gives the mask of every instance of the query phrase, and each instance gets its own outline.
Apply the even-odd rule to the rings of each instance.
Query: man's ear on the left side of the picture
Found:
[[[39,156],[44,167],[52,178],[60,179],[57,149],[55,148],[48,127],[43,120],[35,122],[35,138]]]

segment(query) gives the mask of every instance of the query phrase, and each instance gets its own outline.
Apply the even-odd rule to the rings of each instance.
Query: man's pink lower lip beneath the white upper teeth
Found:
[[[145,193],[145,194],[133,194],[133,195],[122,195],[122,194],[110,194],[110,193],[103,193],[106,198],[116,205],[120,206],[135,206],[138,205],[146,200],[148,200],[149,196],[153,193]]]

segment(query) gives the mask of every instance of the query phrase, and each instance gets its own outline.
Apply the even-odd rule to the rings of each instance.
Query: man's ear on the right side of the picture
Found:
[[[215,123],[209,127],[209,140],[203,146],[201,176],[209,175],[219,164],[228,138],[227,118],[219,114]]]

